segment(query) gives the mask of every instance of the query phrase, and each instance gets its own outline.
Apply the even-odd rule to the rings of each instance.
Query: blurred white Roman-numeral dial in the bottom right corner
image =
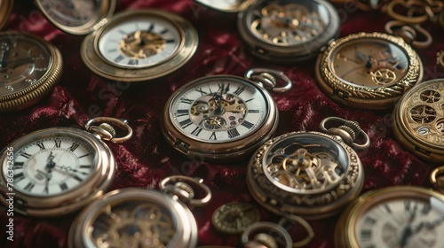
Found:
[[[437,198],[389,198],[363,213],[355,227],[360,247],[442,247],[444,202]]]

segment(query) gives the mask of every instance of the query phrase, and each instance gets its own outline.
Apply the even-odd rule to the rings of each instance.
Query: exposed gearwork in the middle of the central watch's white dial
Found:
[[[242,123],[247,106],[233,94],[209,94],[199,97],[191,106],[194,123],[206,130],[237,127]]]

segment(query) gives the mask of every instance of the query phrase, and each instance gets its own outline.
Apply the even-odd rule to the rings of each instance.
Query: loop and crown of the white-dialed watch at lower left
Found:
[[[97,123],[100,123],[99,126],[94,125]],[[126,135],[115,137],[116,131],[113,125],[125,130]],[[127,120],[120,120],[112,117],[96,117],[88,120],[85,124],[85,129],[90,131],[93,135],[99,136],[100,139],[112,143],[123,143],[124,141],[129,140],[132,136],[132,128],[128,125]]]

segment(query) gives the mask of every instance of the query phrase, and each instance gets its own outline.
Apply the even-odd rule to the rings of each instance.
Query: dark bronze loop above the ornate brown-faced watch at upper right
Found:
[[[425,49],[432,44],[432,35],[419,24],[409,25],[400,20],[391,20],[385,24],[385,31],[390,35],[400,36],[406,43]]]

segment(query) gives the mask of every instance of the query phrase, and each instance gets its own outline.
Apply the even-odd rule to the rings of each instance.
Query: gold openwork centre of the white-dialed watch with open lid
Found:
[[[120,50],[132,58],[147,58],[160,53],[165,47],[165,39],[149,31],[137,30],[130,35],[123,35]]]

